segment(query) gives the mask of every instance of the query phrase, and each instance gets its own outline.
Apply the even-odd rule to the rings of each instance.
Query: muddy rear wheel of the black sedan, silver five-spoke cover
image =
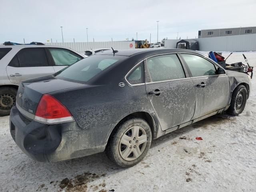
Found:
[[[138,164],[148,153],[152,133],[141,118],[128,119],[110,135],[105,152],[118,166],[128,168]]]

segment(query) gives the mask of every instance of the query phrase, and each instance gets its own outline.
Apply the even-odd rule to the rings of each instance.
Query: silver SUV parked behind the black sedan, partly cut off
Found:
[[[87,56],[47,45],[0,45],[0,116],[8,115],[21,81],[52,75]]]

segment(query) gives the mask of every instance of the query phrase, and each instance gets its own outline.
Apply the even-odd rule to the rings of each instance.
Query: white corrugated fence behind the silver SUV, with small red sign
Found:
[[[77,52],[84,53],[86,50],[97,49],[97,48],[111,48],[117,50],[122,49],[135,49],[134,41],[108,41],[108,42],[70,42],[70,43],[45,43],[46,45],[58,45],[65,46],[76,50]],[[130,48],[132,44],[132,48]]]

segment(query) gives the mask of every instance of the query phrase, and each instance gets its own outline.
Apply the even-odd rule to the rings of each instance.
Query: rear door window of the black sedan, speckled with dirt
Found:
[[[176,54],[147,59],[150,82],[185,78],[184,70]]]

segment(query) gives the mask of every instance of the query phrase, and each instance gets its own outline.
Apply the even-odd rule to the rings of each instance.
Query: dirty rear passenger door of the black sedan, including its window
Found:
[[[188,122],[194,115],[196,93],[177,54],[146,60],[146,92],[162,130]]]

